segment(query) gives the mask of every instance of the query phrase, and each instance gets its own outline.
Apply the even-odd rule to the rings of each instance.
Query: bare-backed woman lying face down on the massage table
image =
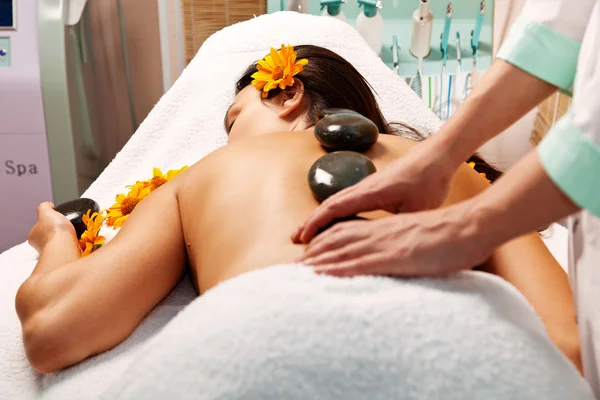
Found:
[[[293,84],[271,89],[266,97],[251,84],[257,71],[251,65],[225,116],[229,144],[148,196],[115,238],[91,255],[80,258],[71,224],[51,204],[40,205],[29,237],[40,259],[16,298],[33,368],[54,371],[121,343],[188,272],[202,294],[240,274],[299,258],[304,245],[292,243],[289,233],[318,204],[306,176],[326,154],[312,130],[321,110],[353,110],[377,125],[384,135],[365,154],[378,170],[417,145],[418,132],[386,122],[368,83],[350,63],[316,46],[296,51],[297,60],[308,64]],[[483,160],[473,161],[490,180],[497,178]],[[465,163],[444,206],[486,185]],[[579,367],[569,283],[539,236],[500,247],[482,269],[523,293],[550,338]]]

